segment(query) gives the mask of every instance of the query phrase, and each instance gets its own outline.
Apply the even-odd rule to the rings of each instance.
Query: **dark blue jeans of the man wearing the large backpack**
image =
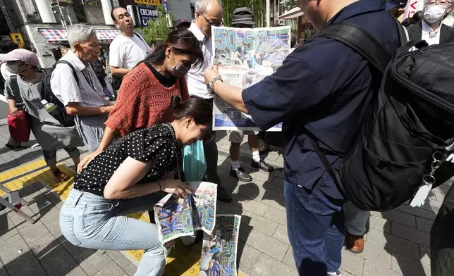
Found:
[[[300,276],[326,276],[340,268],[344,200],[285,182],[288,238]]]

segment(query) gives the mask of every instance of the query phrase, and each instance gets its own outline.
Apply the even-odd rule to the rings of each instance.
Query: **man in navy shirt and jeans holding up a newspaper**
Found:
[[[349,22],[369,31],[393,54],[398,30],[385,0],[298,0],[318,30]],[[288,236],[300,275],[338,275],[344,242],[345,199],[312,148],[308,133],[338,166],[353,142],[381,76],[350,47],[314,37],[276,73],[247,89],[224,84],[216,68],[205,71],[214,93],[252,115],[262,129],[283,122]],[[376,87],[374,87],[376,88]]]

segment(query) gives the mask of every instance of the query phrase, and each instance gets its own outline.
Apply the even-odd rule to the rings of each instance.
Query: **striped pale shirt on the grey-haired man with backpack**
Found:
[[[55,96],[66,106],[79,103],[80,106],[106,106],[102,85],[96,77],[92,65],[84,64],[72,51],[61,58],[71,63],[79,82],[73,77],[73,70],[67,64],[57,64],[51,76],[51,89]]]

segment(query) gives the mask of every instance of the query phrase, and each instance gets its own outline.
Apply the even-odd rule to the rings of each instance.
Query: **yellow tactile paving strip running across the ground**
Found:
[[[19,167],[7,170],[6,172],[0,173],[0,182],[7,181],[12,177],[16,177],[30,170],[36,170],[46,166],[46,163],[43,160],[35,161],[33,163],[28,163],[26,165],[21,165]],[[66,175],[70,175],[70,179],[65,182],[56,182],[54,175],[52,175],[49,168],[44,168],[42,170],[37,170],[36,172],[31,172],[28,175],[20,177],[16,180],[6,182],[5,187],[11,191],[21,189],[27,185],[30,185],[35,182],[42,182],[46,184],[49,189],[52,189],[56,194],[58,194],[61,200],[65,200],[68,197],[70,187],[73,184],[74,171],[70,170],[66,165],[59,164],[59,169],[62,172],[65,172]],[[4,196],[4,192],[0,190],[0,196]],[[131,218],[137,218],[138,220],[144,220],[149,222],[149,217],[147,213],[134,213],[130,215]],[[200,251],[202,249],[202,243],[193,244],[192,246],[184,246],[180,239],[176,240],[176,249],[172,250],[170,255],[167,258],[166,270],[164,271],[164,276],[192,276],[199,275],[200,268]],[[135,258],[137,261],[140,261],[144,253],[143,250],[133,250],[128,251],[130,256]],[[240,276],[245,276],[242,273]]]

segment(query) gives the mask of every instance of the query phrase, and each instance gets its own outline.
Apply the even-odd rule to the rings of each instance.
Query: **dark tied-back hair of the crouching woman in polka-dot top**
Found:
[[[171,108],[173,109],[173,118],[176,120],[192,117],[197,125],[211,126],[213,108],[205,99],[192,97],[181,102],[180,96],[172,96]]]

